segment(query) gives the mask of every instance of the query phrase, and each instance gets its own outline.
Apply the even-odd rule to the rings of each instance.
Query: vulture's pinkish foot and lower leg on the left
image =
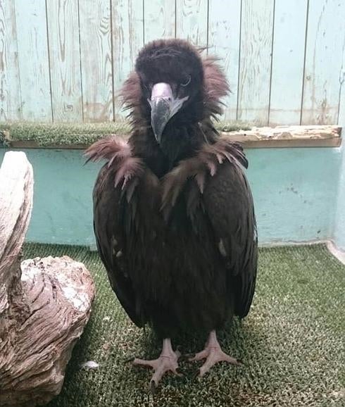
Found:
[[[175,375],[180,375],[177,373],[177,360],[180,358],[180,356],[180,351],[174,352],[172,350],[170,338],[167,338],[163,339],[163,349],[158,359],[154,359],[153,361],[144,361],[143,359],[135,358],[133,364],[153,368],[154,372],[151,377],[150,387],[151,391],[154,391],[158,385],[158,382],[166,372],[170,371],[175,373]]]

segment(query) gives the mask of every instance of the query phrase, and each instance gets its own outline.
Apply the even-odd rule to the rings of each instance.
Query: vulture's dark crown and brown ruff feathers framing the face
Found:
[[[208,121],[222,114],[221,98],[226,96],[229,89],[226,77],[217,58],[201,56],[202,50],[185,41],[184,39],[159,39],[150,42],[139,52],[135,70],[125,81],[120,97],[123,105],[130,111],[128,117],[133,125],[146,127],[147,115],[145,111],[146,100],[143,100],[141,72],[148,66],[153,66],[151,71],[158,70],[166,73],[169,70],[183,71],[188,65],[196,73],[201,87],[199,121]],[[198,73],[199,72],[199,73]],[[144,102],[144,103],[143,103]]]

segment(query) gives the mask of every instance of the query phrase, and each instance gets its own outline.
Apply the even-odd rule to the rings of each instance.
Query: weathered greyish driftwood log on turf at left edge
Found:
[[[89,319],[94,284],[71,258],[21,261],[30,222],[32,166],[8,152],[0,168],[0,406],[34,407],[61,391]]]

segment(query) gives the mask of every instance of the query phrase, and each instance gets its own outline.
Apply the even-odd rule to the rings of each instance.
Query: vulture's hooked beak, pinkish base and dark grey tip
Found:
[[[161,142],[166,124],[180,110],[187,99],[188,96],[175,99],[168,83],[159,82],[153,85],[151,99],[148,101],[151,106],[151,126],[158,143]]]

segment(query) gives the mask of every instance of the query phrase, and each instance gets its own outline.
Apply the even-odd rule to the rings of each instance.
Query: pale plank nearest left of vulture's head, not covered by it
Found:
[[[84,121],[113,120],[110,0],[81,0],[80,57]]]

